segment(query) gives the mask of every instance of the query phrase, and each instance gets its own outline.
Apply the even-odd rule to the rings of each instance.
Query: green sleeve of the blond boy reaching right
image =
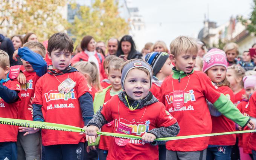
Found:
[[[249,117],[242,115],[231,100],[229,100],[224,94],[221,94],[213,105],[219,112],[221,112],[221,114],[234,121],[239,126],[244,127],[247,125]]]

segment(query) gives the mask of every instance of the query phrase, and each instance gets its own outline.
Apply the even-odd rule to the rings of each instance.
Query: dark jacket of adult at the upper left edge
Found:
[[[11,39],[3,36],[3,34],[0,34],[0,42],[1,42],[0,49],[7,52],[7,54],[9,55],[10,65],[14,66],[14,65],[18,64],[18,62],[14,61],[12,59],[12,55],[13,55],[15,49],[14,49]]]

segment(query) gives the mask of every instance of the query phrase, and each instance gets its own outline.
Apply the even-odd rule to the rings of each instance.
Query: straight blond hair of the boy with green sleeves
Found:
[[[190,54],[197,55],[197,42],[187,36],[178,36],[170,44],[170,53],[177,57],[182,52],[190,52]]]

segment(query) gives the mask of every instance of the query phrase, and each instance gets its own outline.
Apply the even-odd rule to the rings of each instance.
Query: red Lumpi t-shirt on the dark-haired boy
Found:
[[[76,82],[76,85],[69,93],[61,94],[58,91],[58,85],[68,77]],[[82,120],[79,97],[86,92],[90,92],[87,82],[79,72],[65,73],[56,77],[46,73],[37,81],[33,104],[43,105],[42,112],[45,122],[82,128],[84,127],[84,122]],[[84,142],[84,137],[84,135],[79,135],[77,132],[42,129],[44,146],[78,144],[79,142]]]

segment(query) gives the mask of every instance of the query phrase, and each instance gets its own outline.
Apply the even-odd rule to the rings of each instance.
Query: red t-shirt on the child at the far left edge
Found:
[[[18,118],[18,108],[20,106],[20,83],[17,81],[7,81],[3,83],[10,90],[18,91],[19,99],[14,103],[6,103],[0,97],[0,117],[2,118]],[[18,126],[5,125],[0,121],[0,142],[17,142]]]

